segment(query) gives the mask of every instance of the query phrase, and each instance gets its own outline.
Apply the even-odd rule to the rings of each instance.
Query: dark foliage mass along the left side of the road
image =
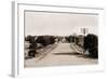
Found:
[[[29,41],[29,51],[28,51],[28,56],[35,57],[37,53],[37,49],[41,49],[43,47],[46,47],[49,44],[53,44],[55,42],[55,37],[54,36],[39,36],[37,39],[35,39],[35,36],[27,36],[25,38],[25,41]],[[41,45],[38,45],[40,43]]]

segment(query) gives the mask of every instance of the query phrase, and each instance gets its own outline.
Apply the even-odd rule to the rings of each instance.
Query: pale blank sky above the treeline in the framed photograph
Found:
[[[25,35],[72,35],[80,28],[97,35],[98,15],[25,12]]]

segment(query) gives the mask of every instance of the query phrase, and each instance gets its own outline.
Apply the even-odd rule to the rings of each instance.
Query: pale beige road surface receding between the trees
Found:
[[[86,58],[77,53],[75,49],[70,48],[70,43],[58,43],[54,50],[38,62],[35,58],[25,61],[25,67],[91,64],[97,64],[97,60]]]

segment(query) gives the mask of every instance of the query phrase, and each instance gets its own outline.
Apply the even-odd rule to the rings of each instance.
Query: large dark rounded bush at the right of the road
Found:
[[[91,57],[98,57],[98,38],[96,35],[84,37],[84,50],[89,50]]]

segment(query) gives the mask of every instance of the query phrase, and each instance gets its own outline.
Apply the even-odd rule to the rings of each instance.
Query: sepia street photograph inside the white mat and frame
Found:
[[[98,64],[98,14],[24,11],[24,67]]]

